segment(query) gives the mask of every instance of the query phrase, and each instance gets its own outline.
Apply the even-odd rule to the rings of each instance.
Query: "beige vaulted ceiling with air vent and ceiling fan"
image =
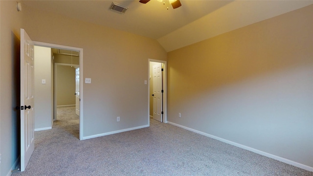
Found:
[[[112,2],[128,7],[110,10]],[[313,4],[313,0],[23,0],[23,5],[156,39],[166,51]],[[167,10],[168,7],[168,10]]]

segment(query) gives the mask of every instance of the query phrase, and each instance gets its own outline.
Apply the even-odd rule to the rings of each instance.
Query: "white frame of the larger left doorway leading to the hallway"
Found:
[[[79,111],[79,140],[83,140],[83,48],[78,48],[78,47],[72,47],[72,46],[65,46],[65,45],[59,45],[59,44],[49,44],[49,43],[43,43],[43,42],[36,42],[33,41],[36,46],[44,46],[44,47],[50,47],[50,48],[57,48],[57,49],[66,49],[66,50],[73,50],[73,51],[78,51],[79,52],[79,82],[80,87],[80,111]],[[55,106],[55,103],[54,103]]]

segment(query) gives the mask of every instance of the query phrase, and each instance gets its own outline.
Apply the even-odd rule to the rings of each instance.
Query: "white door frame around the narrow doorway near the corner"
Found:
[[[167,123],[167,62],[155,59],[148,59],[148,80],[150,79],[150,62],[162,63],[163,69],[163,122]],[[149,83],[149,81],[148,81]],[[148,84],[148,125],[150,125],[150,84]]]

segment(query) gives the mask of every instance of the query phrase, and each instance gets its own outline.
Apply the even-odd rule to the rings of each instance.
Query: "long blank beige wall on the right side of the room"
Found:
[[[168,121],[313,167],[312,31],[310,5],[169,52]]]

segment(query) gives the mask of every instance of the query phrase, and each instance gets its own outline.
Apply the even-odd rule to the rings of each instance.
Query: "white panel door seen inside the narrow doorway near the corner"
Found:
[[[153,65],[153,119],[162,122],[162,64]]]

